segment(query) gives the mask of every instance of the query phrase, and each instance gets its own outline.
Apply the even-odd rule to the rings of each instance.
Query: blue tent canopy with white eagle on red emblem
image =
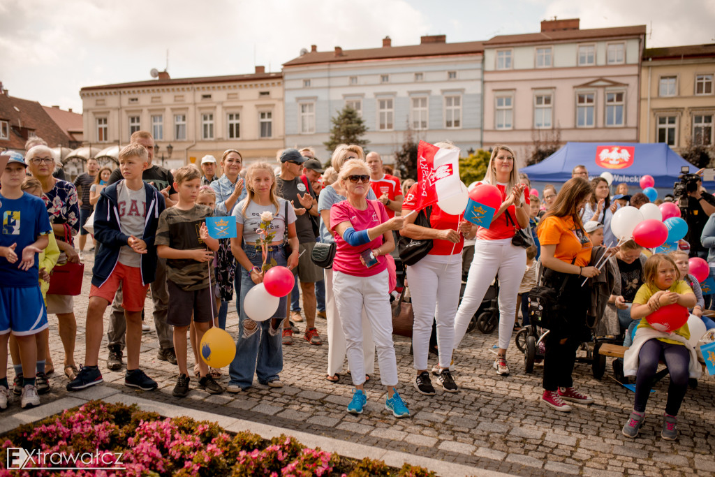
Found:
[[[691,173],[696,167],[680,157],[667,144],[640,144],[637,142],[567,142],[565,146],[533,166],[524,167],[533,182],[563,183],[571,179],[571,170],[578,164],[588,169],[589,177],[603,172],[613,174],[613,185],[625,182],[633,190],[639,190],[641,177],[653,176],[659,192],[672,193],[673,184],[681,174],[681,167],[688,166]]]

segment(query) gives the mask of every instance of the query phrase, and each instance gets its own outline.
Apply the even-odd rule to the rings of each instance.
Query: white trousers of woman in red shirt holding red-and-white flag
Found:
[[[407,267],[415,322],[412,349],[415,369],[427,369],[432,322],[437,321],[441,368],[449,368],[454,348],[454,318],[462,285],[462,255],[427,255]]]

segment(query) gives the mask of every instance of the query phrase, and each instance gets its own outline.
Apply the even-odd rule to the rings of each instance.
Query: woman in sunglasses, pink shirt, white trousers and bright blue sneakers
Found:
[[[347,342],[347,363],[355,384],[347,412],[362,414],[365,395],[363,355],[363,308],[373,328],[378,350],[380,378],[388,388],[385,408],[397,418],[410,411],[395,390],[398,367],[393,344],[392,311],[388,290],[388,255],[395,249],[393,230],[403,228],[405,219],[388,219],[385,206],[365,196],[370,188],[370,169],[360,159],[350,159],[340,169],[340,185],[347,200],[332,206],[330,228],[335,232],[333,291]]]

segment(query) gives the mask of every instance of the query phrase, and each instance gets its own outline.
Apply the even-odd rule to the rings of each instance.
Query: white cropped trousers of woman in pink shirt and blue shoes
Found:
[[[347,343],[347,365],[352,383],[365,383],[365,355],[363,353],[363,308],[373,326],[375,349],[378,351],[380,380],[383,385],[398,383],[398,363],[393,344],[393,314],[388,294],[388,270],[371,277],[354,277],[335,270],[333,292],[337,313]]]

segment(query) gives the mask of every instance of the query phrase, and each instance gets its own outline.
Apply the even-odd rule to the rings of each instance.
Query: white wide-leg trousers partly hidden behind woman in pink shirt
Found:
[[[340,313],[337,313],[335,294],[332,292],[332,269],[325,269],[325,315],[327,315],[327,374],[342,373],[345,361],[345,333],[342,333]],[[373,327],[363,309],[363,358],[365,373],[375,373],[375,341]]]

